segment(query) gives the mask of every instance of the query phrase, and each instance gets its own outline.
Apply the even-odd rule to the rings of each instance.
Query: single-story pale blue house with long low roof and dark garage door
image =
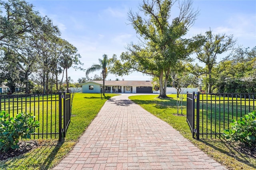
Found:
[[[82,93],[101,93],[103,81],[82,83]],[[105,93],[153,93],[152,81],[105,81]]]

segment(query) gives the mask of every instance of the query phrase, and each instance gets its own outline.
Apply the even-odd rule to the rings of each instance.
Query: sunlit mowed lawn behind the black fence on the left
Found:
[[[36,129],[35,135],[31,135],[32,139],[58,138],[58,94],[49,94],[43,96],[31,95],[29,97],[19,95],[18,98],[1,99],[0,108],[1,110],[6,111],[6,113],[9,113],[10,117],[15,117],[18,113],[25,111],[32,113],[32,115],[35,117],[34,120],[39,121],[40,123],[40,127]],[[44,135],[42,135],[42,133],[44,133]]]

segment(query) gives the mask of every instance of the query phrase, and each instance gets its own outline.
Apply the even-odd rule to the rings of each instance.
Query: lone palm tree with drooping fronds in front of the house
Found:
[[[105,96],[105,92],[104,92],[104,87],[105,87],[105,80],[106,77],[108,75],[108,64],[109,64],[109,60],[108,60],[108,55],[104,54],[102,55],[103,59],[99,58],[99,63],[100,64],[93,64],[90,68],[88,68],[86,70],[86,77],[88,77],[89,73],[92,73],[94,71],[98,71],[98,70],[102,70],[102,78],[103,78],[103,86],[102,86],[102,91],[103,91],[103,96]]]

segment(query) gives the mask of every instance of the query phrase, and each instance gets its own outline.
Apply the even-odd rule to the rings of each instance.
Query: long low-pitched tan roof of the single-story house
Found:
[[[103,85],[103,81],[87,81],[87,84],[94,82]],[[105,86],[150,86],[152,87],[152,81],[105,81]]]

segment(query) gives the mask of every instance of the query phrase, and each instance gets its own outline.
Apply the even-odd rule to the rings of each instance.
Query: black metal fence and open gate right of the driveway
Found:
[[[196,138],[220,138],[223,130],[230,128],[232,119],[238,120],[256,109],[256,93],[188,93],[187,102],[194,106],[187,109],[187,119],[196,116],[196,123],[189,121],[190,127],[193,127],[191,124],[196,127],[191,129],[196,132]],[[192,135],[194,137],[194,133]]]

